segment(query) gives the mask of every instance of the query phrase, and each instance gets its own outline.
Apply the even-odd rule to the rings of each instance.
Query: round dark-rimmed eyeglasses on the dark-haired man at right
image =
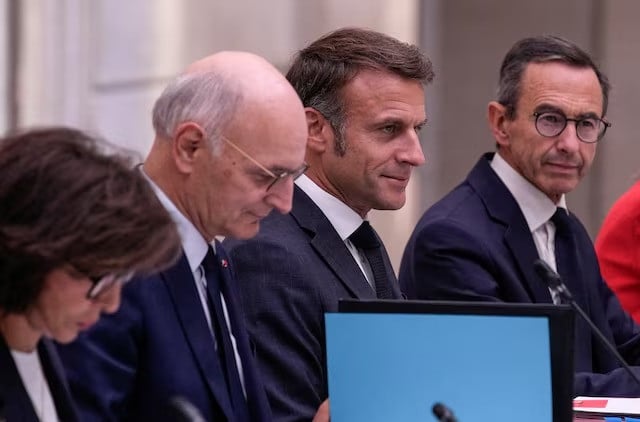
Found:
[[[564,131],[568,122],[574,122],[578,139],[587,144],[601,140],[607,128],[611,127],[611,123],[596,117],[570,119],[564,114],[554,111],[533,113],[533,116],[536,118],[536,130],[540,135],[553,138]]]

